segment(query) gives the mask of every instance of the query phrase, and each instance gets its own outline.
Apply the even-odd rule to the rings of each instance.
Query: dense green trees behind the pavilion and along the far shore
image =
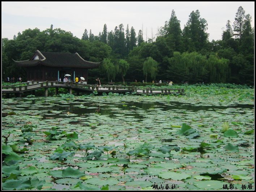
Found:
[[[43,52],[79,53],[101,67],[89,71],[89,77],[102,81],[229,82],[254,84],[254,27],[251,16],[240,6],[235,22],[227,21],[221,40],[209,42],[208,23],[199,10],[192,11],[183,30],[174,10],[160,28],[157,38],[143,39],[136,31],[120,24],[114,31],[94,35],[85,29],[82,38],[60,28],[40,31],[27,29],[2,39],[2,78],[25,79],[25,70],[13,60],[30,59],[36,50]],[[231,26],[232,25],[232,26]],[[90,79],[89,79],[90,80]]]

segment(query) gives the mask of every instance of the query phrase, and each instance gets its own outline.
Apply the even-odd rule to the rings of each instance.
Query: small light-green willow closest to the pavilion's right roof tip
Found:
[[[111,62],[110,59],[104,59],[101,63],[101,70],[103,73],[107,75],[108,81],[115,80],[116,74],[117,74],[117,68],[114,65],[114,63]]]

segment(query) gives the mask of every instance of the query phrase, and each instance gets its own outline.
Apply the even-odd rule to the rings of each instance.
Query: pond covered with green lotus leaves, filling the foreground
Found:
[[[2,189],[254,189],[254,89],[2,99]]]

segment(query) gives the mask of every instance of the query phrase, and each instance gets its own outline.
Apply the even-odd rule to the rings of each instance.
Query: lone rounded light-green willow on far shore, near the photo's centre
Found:
[[[143,74],[145,75],[146,82],[149,74],[151,78],[155,79],[157,67],[158,63],[152,57],[147,57],[146,61],[143,63]]]

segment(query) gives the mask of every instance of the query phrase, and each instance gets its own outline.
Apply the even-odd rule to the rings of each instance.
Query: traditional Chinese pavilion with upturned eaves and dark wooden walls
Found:
[[[88,83],[88,69],[99,67],[99,63],[85,61],[78,53],[52,53],[37,50],[33,57],[25,61],[14,61],[25,67],[27,80],[63,81],[65,74],[71,75],[71,81],[84,77]]]

